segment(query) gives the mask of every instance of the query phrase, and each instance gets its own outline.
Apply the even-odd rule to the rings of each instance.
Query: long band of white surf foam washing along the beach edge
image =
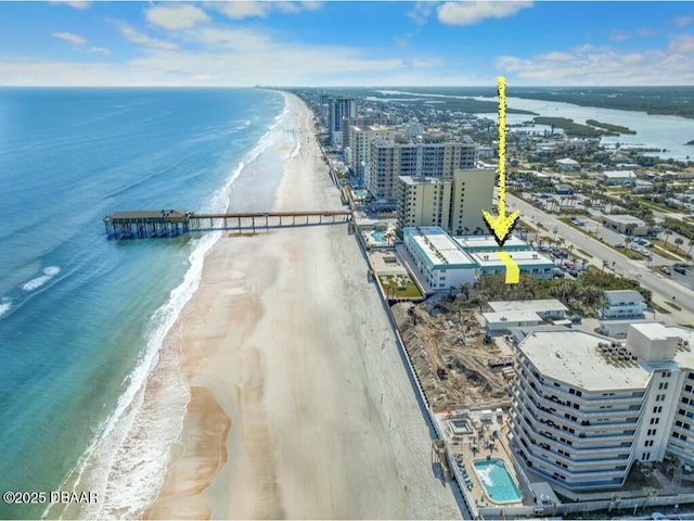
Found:
[[[228,207],[234,181],[248,163],[272,144],[272,129],[287,114],[285,102],[282,114],[275,117],[270,129],[239,163],[224,185],[210,196],[204,211],[224,211]],[[89,505],[81,512],[82,518],[138,518],[158,495],[168,468],[169,450],[182,430],[190,390],[179,373],[177,359],[167,359],[166,367],[154,369],[159,361],[164,339],[200,285],[205,255],[220,237],[220,232],[213,232],[195,241],[184,280],[154,314],[147,346],[127,382],[124,382],[126,389],[115,409],[100,425],[93,442],[80,458],[76,475],[73,473],[72,479],[68,478],[69,483],[64,483],[64,487],[93,491],[103,498],[98,505]],[[158,392],[155,399],[145,403],[147,379],[156,379]],[[50,507],[43,517],[49,511]],[[50,517],[54,516],[55,512],[50,512]]]

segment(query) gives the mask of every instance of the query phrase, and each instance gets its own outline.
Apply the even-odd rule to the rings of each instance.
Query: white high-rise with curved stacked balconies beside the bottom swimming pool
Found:
[[[694,463],[694,331],[631,326],[626,346],[579,330],[516,346],[511,439],[526,471],[569,491],[619,488],[635,461]]]

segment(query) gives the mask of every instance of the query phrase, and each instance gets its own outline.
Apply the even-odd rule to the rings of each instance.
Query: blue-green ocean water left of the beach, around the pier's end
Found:
[[[0,89],[0,490],[61,486],[211,244],[108,241],[103,216],[226,208],[283,107],[258,89]],[[46,507],[0,503],[0,518]]]

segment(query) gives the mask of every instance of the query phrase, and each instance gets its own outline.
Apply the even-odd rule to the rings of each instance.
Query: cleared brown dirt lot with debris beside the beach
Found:
[[[506,408],[514,355],[485,334],[475,309],[446,298],[391,307],[400,336],[432,409]]]

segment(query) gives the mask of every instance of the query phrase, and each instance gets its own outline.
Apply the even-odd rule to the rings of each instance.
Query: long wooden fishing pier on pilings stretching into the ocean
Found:
[[[104,217],[108,239],[177,237],[194,231],[244,231],[350,223],[348,209],[194,214],[184,209],[115,212]]]

